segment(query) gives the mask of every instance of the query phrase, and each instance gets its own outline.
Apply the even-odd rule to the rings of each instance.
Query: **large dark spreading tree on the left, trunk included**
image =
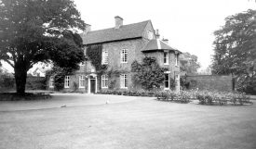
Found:
[[[76,32],[84,29],[72,0],[0,0],[0,59],[14,68],[17,93],[37,62],[77,68],[84,53]]]

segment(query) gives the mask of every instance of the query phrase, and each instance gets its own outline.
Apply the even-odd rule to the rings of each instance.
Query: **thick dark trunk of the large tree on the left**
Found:
[[[14,68],[15,81],[16,81],[16,92],[19,94],[25,93],[26,81],[27,81],[27,70],[26,67],[16,66]]]

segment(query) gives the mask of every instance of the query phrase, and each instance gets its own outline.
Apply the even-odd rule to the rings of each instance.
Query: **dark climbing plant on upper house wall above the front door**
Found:
[[[107,69],[107,65],[101,65],[102,44],[88,45],[87,56],[98,73],[102,73]]]

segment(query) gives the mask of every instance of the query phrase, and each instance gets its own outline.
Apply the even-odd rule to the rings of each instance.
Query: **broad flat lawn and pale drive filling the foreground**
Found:
[[[255,101],[252,106],[200,106],[116,95],[68,98],[71,102],[58,105],[61,100],[53,97],[46,101],[53,106],[46,108],[21,103],[23,110],[15,110],[19,103],[0,102],[10,106],[0,109],[0,148],[256,148]]]

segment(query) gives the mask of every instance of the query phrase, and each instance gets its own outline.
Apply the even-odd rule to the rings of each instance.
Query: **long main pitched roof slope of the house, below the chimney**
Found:
[[[91,43],[106,43],[125,39],[142,37],[146,25],[151,20],[142,21],[139,23],[123,25],[118,29],[110,28],[99,31],[88,31],[87,34],[81,34],[84,44]]]

